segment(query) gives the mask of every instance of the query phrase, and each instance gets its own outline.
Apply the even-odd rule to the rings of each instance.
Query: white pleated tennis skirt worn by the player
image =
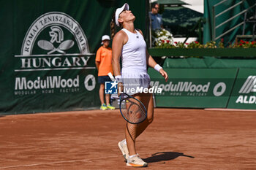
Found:
[[[141,93],[143,88],[148,88],[150,84],[150,77],[147,72],[142,72],[136,69],[127,69],[121,72],[121,77],[124,84],[124,93],[134,95]]]

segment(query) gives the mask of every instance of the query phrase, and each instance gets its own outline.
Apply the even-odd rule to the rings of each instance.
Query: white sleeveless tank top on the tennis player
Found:
[[[146,70],[146,42],[139,31],[132,33],[123,28],[128,36],[127,43],[122,49],[122,72],[147,72]]]

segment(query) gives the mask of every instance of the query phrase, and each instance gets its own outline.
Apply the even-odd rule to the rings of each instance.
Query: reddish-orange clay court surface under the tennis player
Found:
[[[136,169],[124,125],[117,109],[2,116],[0,169]],[[140,169],[256,169],[256,112],[155,109],[137,148]]]

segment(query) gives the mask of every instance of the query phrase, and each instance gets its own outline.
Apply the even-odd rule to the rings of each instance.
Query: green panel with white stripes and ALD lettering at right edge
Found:
[[[239,69],[227,108],[256,109],[256,69]]]

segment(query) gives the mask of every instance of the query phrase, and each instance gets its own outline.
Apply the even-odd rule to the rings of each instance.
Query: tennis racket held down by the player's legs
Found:
[[[112,81],[115,81],[111,73],[108,73],[108,76]],[[125,108],[121,107],[122,103],[125,104]],[[124,117],[124,120],[127,120],[128,123],[138,124],[146,120],[147,110],[144,104],[127,93],[120,94],[119,109],[122,117]]]

